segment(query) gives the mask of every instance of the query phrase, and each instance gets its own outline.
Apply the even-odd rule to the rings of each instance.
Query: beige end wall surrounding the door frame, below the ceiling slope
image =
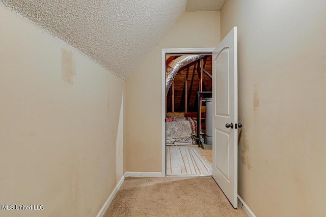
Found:
[[[186,12],[127,80],[127,171],[161,171],[161,49],[219,42],[220,12]]]

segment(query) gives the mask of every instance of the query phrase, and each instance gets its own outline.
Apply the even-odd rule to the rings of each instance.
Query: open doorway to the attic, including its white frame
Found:
[[[167,176],[212,176],[212,145],[206,142],[212,50],[162,49],[162,174]],[[166,66],[189,55],[200,57],[179,66],[167,88]]]

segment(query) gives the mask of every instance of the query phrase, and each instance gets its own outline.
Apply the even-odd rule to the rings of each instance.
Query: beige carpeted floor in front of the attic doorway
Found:
[[[234,209],[212,178],[127,177],[108,216],[247,216]]]

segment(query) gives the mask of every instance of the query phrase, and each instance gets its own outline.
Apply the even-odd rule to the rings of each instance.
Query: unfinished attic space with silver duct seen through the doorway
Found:
[[[211,53],[166,55],[168,176],[212,175],[211,61]]]

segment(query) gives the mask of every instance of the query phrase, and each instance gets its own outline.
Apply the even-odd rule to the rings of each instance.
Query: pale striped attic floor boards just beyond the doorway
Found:
[[[212,150],[167,146],[167,176],[211,176]]]

